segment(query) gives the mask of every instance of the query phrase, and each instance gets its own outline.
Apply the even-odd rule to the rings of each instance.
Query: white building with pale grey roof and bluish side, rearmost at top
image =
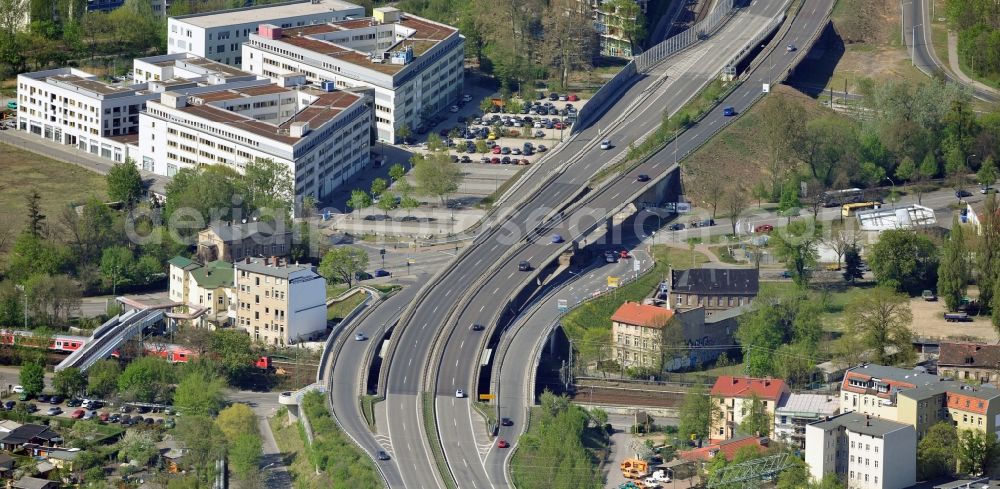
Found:
[[[364,7],[341,0],[299,0],[179,15],[167,19],[167,53],[191,53],[239,67],[242,45],[260,24],[291,28],[364,16]]]

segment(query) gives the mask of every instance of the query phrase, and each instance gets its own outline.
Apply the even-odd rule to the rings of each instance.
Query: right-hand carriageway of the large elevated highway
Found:
[[[833,0],[807,1],[799,16],[791,25],[785,38],[774,41],[778,45],[778,49],[775,49],[767,59],[763,60],[758,65],[759,67],[748,76],[748,81],[740,86],[721,105],[733,106],[740,112],[759,96],[762,83],[783,79],[786,70],[789,69],[791,63],[798,56],[798,53],[795,51],[786,51],[784,46],[786,44],[794,44],[796,46],[806,45],[825,26],[826,14],[832,3]],[[764,15],[774,15],[774,11],[768,13],[765,10]],[[740,25],[737,20],[730,22],[729,25]],[[724,39],[721,34],[717,38],[720,40]],[[705,64],[699,64],[706,66]],[[488,442],[488,438],[486,438],[483,423],[472,416],[469,400],[456,399],[455,397],[455,389],[470,388],[470,386],[474,385],[475,378],[478,376],[478,369],[475,368],[475,365],[478,363],[480,349],[469,348],[466,345],[467,338],[472,334],[468,331],[468,325],[474,322],[489,321],[495,311],[506,307],[505,301],[508,293],[520,290],[520,288],[526,285],[530,274],[518,272],[516,268],[517,263],[528,261],[537,266],[542,266],[554,256],[559,247],[549,244],[550,234],[558,233],[567,239],[580,237],[590,229],[595,221],[600,222],[604,216],[638,196],[643,187],[636,183],[638,175],[646,174],[653,177],[653,181],[647,184],[652,185],[656,180],[663,178],[675,168],[671,161],[675,147],[677,153],[680,155],[690,153],[713,136],[728,120],[729,118],[722,115],[722,107],[720,106],[714,113],[701,121],[701,123],[683,134],[676,144],[671,144],[656,157],[647,161],[640,168],[622,176],[613,184],[588,194],[578,211],[568,215],[565,220],[559,222],[557,226],[547,231],[545,235],[538,237],[535,243],[521,246],[517,249],[516,253],[508,254],[504,257],[502,268],[485,272],[489,275],[489,279],[485,283],[478,285],[479,293],[474,294],[473,297],[468,299],[465,305],[461,306],[461,314],[458,315],[455,328],[448,338],[444,352],[441,355],[441,360],[437,365],[436,394],[439,433],[448,463],[458,480],[459,487],[507,487],[508,485],[508,481],[497,479],[499,475],[497,472],[502,472],[502,468],[497,470],[496,467],[502,467],[502,462],[496,463],[491,461],[490,467],[494,469],[488,470],[486,468],[486,460],[490,459],[494,451],[500,449],[495,448],[492,444],[485,444]],[[630,127],[640,123],[641,119],[632,119]],[[582,162],[578,163],[578,165],[584,166]],[[587,167],[586,170],[579,168],[579,174],[590,175],[592,173],[590,168],[593,167]],[[574,173],[577,173],[577,168],[574,168]],[[567,175],[567,177],[572,178],[570,175]],[[541,201],[540,204],[533,203],[529,207],[551,208],[563,202],[565,198],[556,192],[543,192],[539,199],[536,199],[536,201],[539,200]],[[488,243],[483,245],[483,247],[486,246],[488,246]],[[493,246],[496,248],[498,244],[494,244]],[[468,259],[470,256],[476,256],[476,254],[467,253],[463,255],[463,258]],[[489,258],[493,258],[493,256],[489,256]],[[498,258],[494,258],[494,260],[500,261]],[[446,279],[441,286],[435,289],[435,292],[445,289],[447,297],[447,289],[453,285],[449,285]],[[503,292],[501,293],[501,291]],[[440,302],[435,301],[434,304],[435,308],[440,307]],[[425,309],[423,307],[418,309],[415,318],[419,318],[420,311]],[[433,315],[427,315],[424,318],[424,321],[442,321],[447,316],[438,315],[435,318]],[[473,392],[472,394],[474,395],[475,393]],[[523,409],[517,405],[508,407],[511,410],[507,411],[508,413]],[[485,456],[483,455],[483,451],[485,451]],[[479,466],[477,467],[477,465]],[[482,473],[480,471],[486,471],[489,474],[483,477],[480,476]]]

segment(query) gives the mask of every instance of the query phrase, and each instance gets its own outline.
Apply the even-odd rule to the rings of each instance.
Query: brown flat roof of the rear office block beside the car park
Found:
[[[363,53],[350,47],[322,39],[325,34],[349,32],[356,29],[367,29],[372,26],[373,20],[373,17],[365,17],[362,19],[343,20],[328,24],[290,27],[282,29],[281,38],[279,40],[302,49],[313,51],[331,58],[341,59],[348,63],[363,66],[380,73],[394,75],[399,73],[409,64],[415,63],[417,58],[429,51],[439,42],[458,32],[458,29],[454,27],[438,24],[405,12],[401,13],[400,20],[399,22],[396,22],[395,25],[413,29],[414,32],[406,39],[396,43],[393,46],[393,49],[401,49],[407,46],[413,48],[414,60],[406,65],[392,64],[389,62],[373,63],[371,59],[369,59],[368,53]]]

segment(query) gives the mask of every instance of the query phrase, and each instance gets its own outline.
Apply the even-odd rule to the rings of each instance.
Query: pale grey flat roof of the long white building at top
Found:
[[[352,9],[361,9],[362,12],[364,12],[364,8],[360,5],[344,2],[342,0],[302,0],[297,2],[262,5],[260,7],[219,10],[208,14],[180,15],[172,18],[193,26],[211,29],[213,27],[236,24],[252,24],[255,22],[263,24],[292,17],[322,14],[326,12],[340,12]]]

